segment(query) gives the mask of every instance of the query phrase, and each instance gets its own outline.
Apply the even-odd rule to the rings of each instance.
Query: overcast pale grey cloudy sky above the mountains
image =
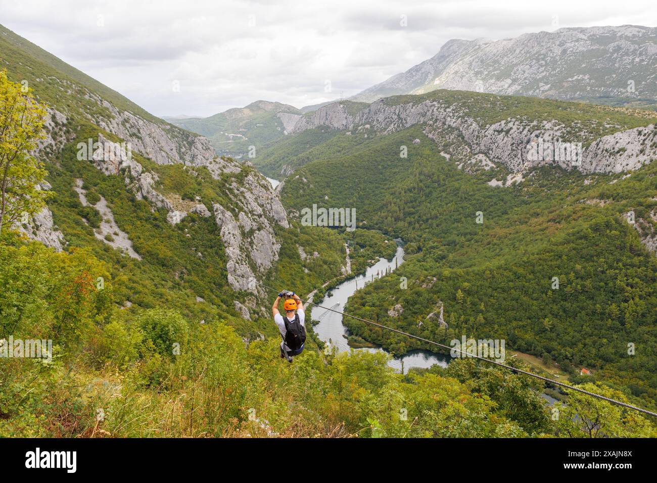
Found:
[[[452,38],[656,26],[654,0],[0,0],[0,24],[157,116],[349,97]],[[330,92],[326,86],[330,85]]]

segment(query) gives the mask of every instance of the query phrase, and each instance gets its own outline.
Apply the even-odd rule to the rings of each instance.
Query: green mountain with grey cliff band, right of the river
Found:
[[[476,93],[426,96],[384,99],[353,122],[336,115],[342,124],[330,126],[329,139],[317,135],[321,124],[309,123],[281,143],[300,166],[284,181],[284,206],[355,208],[359,226],[408,242],[407,263],[359,290],[347,311],[444,344],[463,334],[505,339],[507,348],[541,357],[571,380],[587,367],[596,380],[654,407],[652,114]],[[430,99],[440,99],[435,110]],[[587,144],[581,166],[531,166],[510,155],[528,143],[523,125],[537,131],[538,119],[552,132],[567,126],[570,139]],[[627,168],[631,133],[641,141]],[[296,138],[300,147],[308,137],[317,142],[293,149]],[[608,137],[627,145],[600,150]],[[432,349],[353,319],[346,325],[395,354]],[[630,355],[628,344],[641,354]]]

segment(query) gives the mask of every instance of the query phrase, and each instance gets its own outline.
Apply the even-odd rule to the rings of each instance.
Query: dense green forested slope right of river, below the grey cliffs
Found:
[[[462,334],[503,338],[574,380],[581,367],[591,368],[593,376],[583,380],[604,380],[654,407],[654,163],[629,176],[543,166],[501,187],[489,179],[504,179],[503,166],[464,172],[463,158],[441,154],[459,146],[436,143],[423,130],[363,139],[349,154],[342,150],[349,136],[336,134],[285,182],[283,202],[294,210],[355,207],[359,226],[408,242],[407,262],[359,290],[347,310],[445,344]],[[399,156],[401,145],[407,158]],[[349,176],[336,176],[345,171]],[[428,317],[440,304],[448,327]],[[389,313],[397,305],[401,316]],[[353,319],[345,323],[396,354],[430,349]]]

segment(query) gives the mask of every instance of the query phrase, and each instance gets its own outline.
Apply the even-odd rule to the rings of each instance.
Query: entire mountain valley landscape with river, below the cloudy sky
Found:
[[[556,66],[533,62],[555,39]],[[449,41],[349,99],[158,118],[0,26],[1,99],[43,108],[23,151],[0,145],[27,179],[1,225],[0,355],[53,348],[0,360],[0,436],[657,436],[395,332],[502,342],[512,368],[657,409],[650,45],[627,26]],[[601,81],[618,49],[647,64],[606,82],[640,99]],[[288,363],[277,290],[378,326],[309,306]]]

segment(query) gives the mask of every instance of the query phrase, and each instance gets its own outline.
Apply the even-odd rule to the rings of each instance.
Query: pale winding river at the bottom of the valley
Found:
[[[329,296],[326,296],[321,302],[317,302],[321,306],[331,308],[333,310],[343,311],[348,298],[356,291],[357,288],[363,288],[365,281],[371,281],[372,276],[376,278],[378,273],[385,273],[386,269],[394,270],[398,265],[403,264],[404,250],[401,246],[397,246],[397,252],[392,260],[380,258],[376,264],[367,269],[365,275],[359,275],[353,279],[349,279],[338,285],[337,287],[329,290]],[[368,352],[384,352],[382,348],[359,348],[351,349],[347,344],[347,339],[344,337],[348,334],[348,329],[342,325],[342,315],[339,313],[331,312],[325,308],[313,306],[311,315],[314,320],[319,321],[315,326],[315,333],[324,342],[330,342],[332,346],[336,346],[338,351],[345,352],[348,350],[355,351],[368,351]],[[403,357],[394,357],[388,362],[390,367],[393,367],[397,372],[407,373],[411,367],[431,367],[438,364],[442,367],[447,367],[449,356],[442,354],[434,354],[427,350],[411,350]]]

